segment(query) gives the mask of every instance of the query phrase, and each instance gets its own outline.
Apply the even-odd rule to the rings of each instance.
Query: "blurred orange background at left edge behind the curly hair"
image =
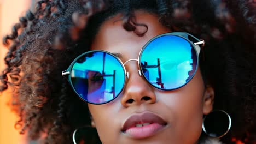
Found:
[[[30,6],[30,0],[0,0],[0,70],[5,68],[3,59],[7,49],[2,45],[2,37],[9,34],[11,26],[18,22],[19,17],[25,15],[26,9]],[[14,124],[18,117],[11,112],[7,106],[10,99],[10,93],[4,92],[0,95],[0,143],[27,143],[26,136],[20,135],[15,130]]]

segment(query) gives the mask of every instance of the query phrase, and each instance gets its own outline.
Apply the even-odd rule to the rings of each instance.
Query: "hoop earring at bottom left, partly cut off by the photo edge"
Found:
[[[72,140],[74,144],[82,141],[84,141],[84,143],[101,143],[96,128],[88,125],[75,129],[72,135]]]

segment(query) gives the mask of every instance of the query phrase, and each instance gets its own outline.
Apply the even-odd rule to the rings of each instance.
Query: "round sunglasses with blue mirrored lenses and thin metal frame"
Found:
[[[88,51],[75,58],[62,75],[68,76],[68,82],[82,100],[105,104],[123,91],[129,79],[125,64],[138,61],[139,75],[153,87],[170,91],[183,87],[193,78],[199,65],[199,45],[204,44],[189,33],[165,33],[149,40],[138,59],[123,63],[117,54]]]

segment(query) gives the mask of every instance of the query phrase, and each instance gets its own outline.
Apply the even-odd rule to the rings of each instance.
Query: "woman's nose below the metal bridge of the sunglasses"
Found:
[[[134,62],[129,63],[129,65],[126,66],[130,76],[129,79],[127,79],[127,83],[124,87],[124,94],[121,98],[121,104],[124,107],[140,104],[154,104],[156,102],[154,88],[150,86],[143,76],[139,75],[138,64]]]

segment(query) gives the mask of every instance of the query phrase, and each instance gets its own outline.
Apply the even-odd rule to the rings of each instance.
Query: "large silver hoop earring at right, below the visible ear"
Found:
[[[202,129],[208,136],[219,139],[231,128],[231,117],[223,110],[214,110],[203,118]]]

